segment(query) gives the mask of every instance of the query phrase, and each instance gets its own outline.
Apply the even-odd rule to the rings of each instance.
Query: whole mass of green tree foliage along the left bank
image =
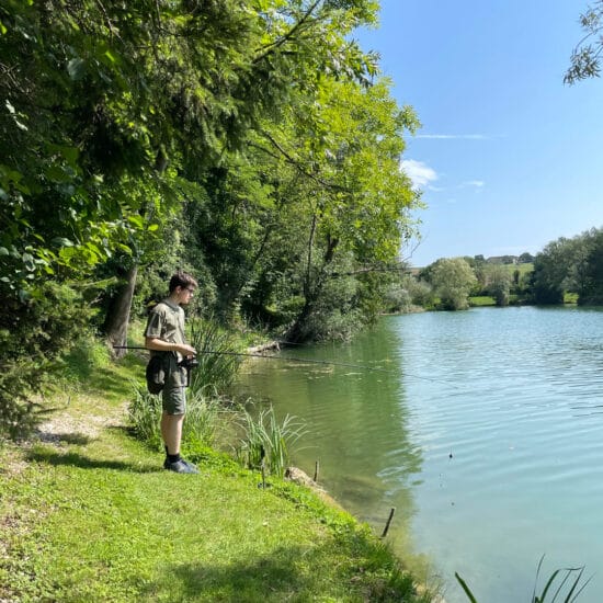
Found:
[[[94,326],[122,337],[132,299],[143,314],[185,268],[225,321],[294,339],[369,322],[368,271],[397,262],[419,205],[399,170],[417,117],[351,35],[377,9],[3,2],[3,320],[46,283],[99,280]]]

